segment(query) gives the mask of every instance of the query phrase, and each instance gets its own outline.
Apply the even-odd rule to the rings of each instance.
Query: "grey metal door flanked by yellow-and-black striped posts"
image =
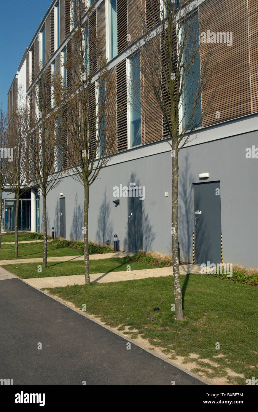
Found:
[[[196,183],[195,194],[195,262],[221,262],[220,182]]]

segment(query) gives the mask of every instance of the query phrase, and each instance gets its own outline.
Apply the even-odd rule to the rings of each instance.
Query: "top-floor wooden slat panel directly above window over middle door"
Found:
[[[127,33],[134,42],[141,35],[141,0],[127,0]]]

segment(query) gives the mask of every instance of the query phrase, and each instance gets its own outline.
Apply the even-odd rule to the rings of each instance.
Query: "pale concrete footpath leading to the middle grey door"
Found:
[[[125,256],[133,256],[133,255],[134,253],[129,253],[129,252],[98,253],[97,255],[89,255],[89,260],[124,258]],[[84,260],[84,255],[55,256],[54,258],[50,258],[50,257],[47,258],[48,262],[72,262],[73,260]],[[43,258],[6,259],[6,260],[0,260],[0,266],[14,265],[17,263],[41,263],[41,262],[43,262]]]

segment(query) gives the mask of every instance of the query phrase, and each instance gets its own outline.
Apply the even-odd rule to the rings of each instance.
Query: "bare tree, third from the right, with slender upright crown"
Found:
[[[38,69],[26,110],[27,164],[31,183],[42,195],[43,268],[47,267],[47,194],[60,182],[62,158],[60,147],[61,117],[55,103],[54,73],[51,65]]]

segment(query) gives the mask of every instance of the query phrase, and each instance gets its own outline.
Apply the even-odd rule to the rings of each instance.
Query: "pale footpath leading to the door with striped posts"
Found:
[[[12,275],[7,270],[0,268],[0,279],[2,271],[5,271],[6,279],[8,279],[8,274]],[[200,273],[199,265],[181,265],[180,274],[195,274]],[[91,283],[108,283],[108,282],[120,282],[120,281],[129,281],[136,279],[145,279],[145,278],[156,278],[159,276],[172,276],[173,268],[172,267],[161,267],[158,269],[141,269],[141,270],[132,270],[131,272],[106,272],[106,273],[92,273],[90,274]],[[70,276],[49,276],[45,278],[33,278],[33,279],[24,279],[27,283],[35,288],[61,288],[65,286],[73,285],[84,285],[85,278],[84,275],[70,275]]]

